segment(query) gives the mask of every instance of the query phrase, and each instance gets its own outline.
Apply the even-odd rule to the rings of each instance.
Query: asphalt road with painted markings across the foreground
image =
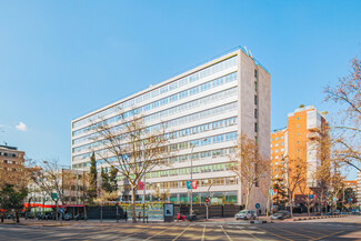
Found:
[[[0,240],[361,240],[361,215],[302,222],[0,225]]]

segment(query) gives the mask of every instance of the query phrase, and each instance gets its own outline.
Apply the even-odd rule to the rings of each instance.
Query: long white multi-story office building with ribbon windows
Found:
[[[170,158],[172,164],[147,173],[147,182],[151,183],[146,185],[147,194],[159,188],[168,190],[170,201],[189,201],[185,182],[190,180],[192,160],[193,180],[198,182],[193,200],[202,201],[212,183],[212,202],[244,203],[244,191],[228,170],[227,155],[241,132],[257,141],[263,157],[269,157],[270,147],[270,74],[244,50],[238,49],[73,120],[72,168],[89,167],[91,151],[97,153],[103,148],[89,139],[92,122],[99,117],[116,122],[114,110],[119,107],[126,113],[136,108],[148,127],[167,122],[167,131],[176,137],[171,140],[178,147]],[[252,207],[265,203],[260,193],[255,187]]]

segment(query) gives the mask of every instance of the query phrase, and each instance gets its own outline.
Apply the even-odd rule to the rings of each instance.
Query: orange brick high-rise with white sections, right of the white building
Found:
[[[318,188],[314,172],[320,165],[315,131],[321,130],[325,112],[319,112],[313,106],[300,107],[288,114],[288,125],[271,133],[271,167],[272,172],[282,174],[287,184],[289,171],[294,171],[290,160],[305,162],[304,180],[294,192],[295,202],[301,202],[301,195]],[[293,162],[294,163],[294,162]],[[303,190],[303,191],[302,191]],[[302,193],[303,192],[303,193]],[[298,200],[300,198],[300,200]]]

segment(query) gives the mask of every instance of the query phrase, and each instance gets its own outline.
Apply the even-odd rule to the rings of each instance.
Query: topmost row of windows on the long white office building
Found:
[[[110,109],[107,109],[107,110],[103,110],[92,117],[89,117],[89,118],[86,118],[83,120],[80,120],[80,121],[77,121],[72,124],[72,128],[78,128],[82,124],[86,124],[90,121],[94,121],[94,120],[98,120],[99,118],[102,118],[102,117],[106,117],[110,113],[113,113],[117,109],[122,109],[124,110],[126,108],[129,108],[129,107],[133,107],[134,104],[138,104],[142,101],[146,101],[148,99],[151,99],[151,98],[154,98],[154,97],[158,97],[159,94],[163,94],[168,91],[171,91],[171,90],[174,90],[179,87],[182,87],[182,86],[185,86],[188,83],[191,83],[191,82],[194,82],[197,80],[200,80],[200,79],[203,79],[208,76],[211,76],[211,74],[214,74],[217,72],[220,72],[220,71],[223,71],[225,69],[229,69],[231,67],[234,67],[237,66],[237,57],[232,57],[228,60],[224,60],[222,62],[219,62],[219,63],[215,63],[211,67],[208,67],[201,71],[198,71],[189,77],[185,77],[183,79],[180,79],[178,81],[174,81],[174,82],[171,82],[171,83],[168,83],[159,89],[156,89],[151,92],[148,92],[148,93],[144,93],[140,97],[137,97],[137,98],[133,98],[131,100],[128,100],[126,102],[122,102],[116,107],[112,107]]]

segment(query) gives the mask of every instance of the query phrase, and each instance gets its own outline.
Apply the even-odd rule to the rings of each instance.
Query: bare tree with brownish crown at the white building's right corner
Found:
[[[259,153],[257,143],[243,133],[240,134],[234,153],[229,155],[229,159],[232,161],[230,170],[239,177],[247,190],[245,209],[248,209],[251,191],[268,173],[270,161]]]

